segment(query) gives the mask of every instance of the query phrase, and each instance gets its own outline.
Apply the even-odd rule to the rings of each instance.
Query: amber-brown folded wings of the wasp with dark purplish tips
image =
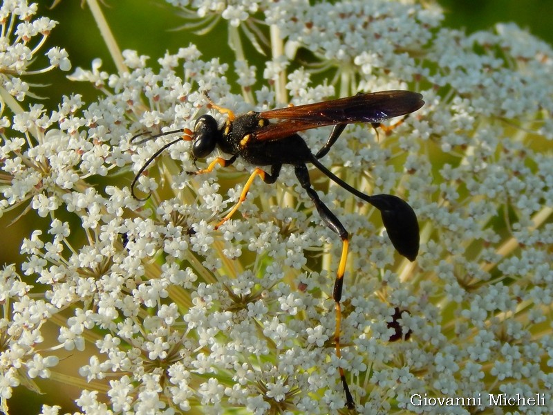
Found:
[[[297,107],[271,109],[259,113],[259,116],[282,121],[262,127],[255,131],[254,136],[256,140],[279,140],[298,131],[325,125],[379,123],[417,111],[422,105],[424,101],[420,93],[380,91]]]

